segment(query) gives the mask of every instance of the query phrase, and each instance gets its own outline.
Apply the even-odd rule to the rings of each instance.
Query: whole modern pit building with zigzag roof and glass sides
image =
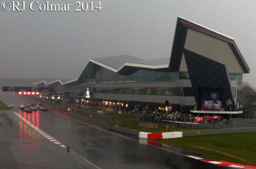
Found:
[[[244,73],[249,73],[249,67],[232,37],[178,17],[168,58],[94,58],[78,79],[35,85],[54,87],[57,93],[82,91],[84,98],[87,91],[90,100],[125,105],[168,100],[173,111],[196,105],[196,110],[234,112],[241,102],[237,88]]]

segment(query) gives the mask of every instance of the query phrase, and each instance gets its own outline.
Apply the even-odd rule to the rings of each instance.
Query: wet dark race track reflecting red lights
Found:
[[[38,102],[17,93],[0,92],[0,99],[14,104],[13,110],[17,112],[16,115],[13,110],[0,111],[0,168],[3,169],[229,168],[189,158],[181,154],[189,155],[185,151],[174,153],[167,145],[153,141],[148,144],[148,140],[136,136],[93,127],[51,109],[23,112],[18,109],[20,104]],[[36,127],[61,144],[38,133]]]

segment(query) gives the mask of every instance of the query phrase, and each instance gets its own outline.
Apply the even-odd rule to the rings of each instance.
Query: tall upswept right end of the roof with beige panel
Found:
[[[187,71],[184,49],[227,65],[229,73],[249,73],[232,37],[178,17],[170,60],[170,68],[174,71]]]

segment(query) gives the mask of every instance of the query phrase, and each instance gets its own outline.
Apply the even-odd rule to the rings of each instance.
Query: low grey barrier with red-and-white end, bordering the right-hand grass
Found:
[[[203,136],[203,135],[251,133],[251,132],[256,132],[256,127],[225,128],[225,129],[200,130],[200,131],[189,131],[189,132],[164,132],[164,133],[140,132],[139,137],[147,138],[147,139],[165,139],[165,138],[178,138],[178,137],[185,137],[185,136]]]

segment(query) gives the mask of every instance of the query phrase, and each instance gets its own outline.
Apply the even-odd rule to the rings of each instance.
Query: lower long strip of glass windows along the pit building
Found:
[[[192,88],[93,88],[93,93],[193,96]]]

